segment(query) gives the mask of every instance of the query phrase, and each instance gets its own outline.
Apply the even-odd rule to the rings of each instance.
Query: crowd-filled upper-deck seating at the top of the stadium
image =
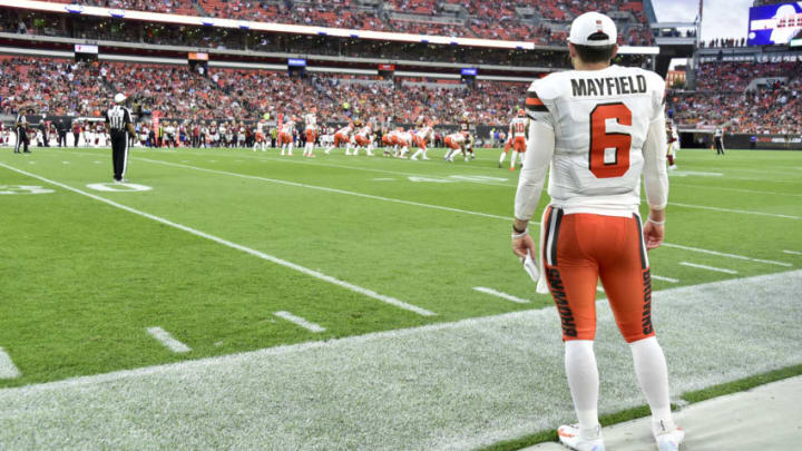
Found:
[[[526,40],[539,45],[565,43],[567,24],[584,11],[619,11],[630,12],[633,17],[629,20],[619,20],[620,43],[643,46],[653,42],[642,2],[625,0],[385,0],[378,2],[378,7],[363,6],[351,0],[50,1],[278,23]]]

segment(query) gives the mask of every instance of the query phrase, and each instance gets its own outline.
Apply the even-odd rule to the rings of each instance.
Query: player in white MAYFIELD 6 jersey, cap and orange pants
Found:
[[[659,450],[677,450],[685,432],[672,416],[668,371],[652,326],[647,256],[665,234],[665,81],[647,70],[610,66],[616,37],[607,16],[579,16],[568,38],[576,70],[551,73],[529,88],[531,124],[516,194],[512,249],[522,259],[537,255],[527,225],[550,167],[540,281],[548,284],[560,315],[565,369],[579,420],[558,429],[560,442],[580,451],[605,450],[593,349],[600,277],[652,410],[653,437]],[[638,216],[642,174],[649,205],[645,226]],[[525,263],[535,277],[539,272],[532,261]]]

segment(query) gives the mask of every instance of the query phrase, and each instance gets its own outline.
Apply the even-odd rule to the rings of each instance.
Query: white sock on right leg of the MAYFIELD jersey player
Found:
[[[663,422],[667,430],[673,430],[675,425],[668,399],[668,366],[663,349],[654,336],[629,343],[629,349],[638,384],[652,409],[652,422]]]

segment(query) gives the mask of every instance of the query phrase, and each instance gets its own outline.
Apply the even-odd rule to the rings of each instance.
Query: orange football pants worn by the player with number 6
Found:
[[[652,276],[640,217],[566,215],[549,206],[544,227],[545,274],[564,341],[596,337],[599,277],[627,343],[654,335]]]

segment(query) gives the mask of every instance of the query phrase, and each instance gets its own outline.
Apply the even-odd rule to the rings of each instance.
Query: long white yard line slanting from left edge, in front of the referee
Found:
[[[133,213],[133,214],[135,214],[135,215],[138,215],[138,216],[141,216],[141,217],[146,217],[146,218],[151,219],[151,220],[155,220],[155,222],[157,222],[157,223],[162,223],[162,224],[165,224],[165,225],[167,225],[167,226],[177,228],[177,229],[179,229],[179,231],[184,231],[184,232],[190,233],[190,234],[193,234],[193,235],[195,235],[195,236],[199,236],[199,237],[202,237],[202,238],[206,238],[206,239],[213,241],[213,242],[215,242],[215,243],[217,243],[217,244],[222,244],[222,245],[224,245],[224,246],[227,246],[227,247],[231,247],[231,248],[234,248],[234,249],[237,249],[237,251],[242,251],[242,252],[244,252],[244,253],[246,253],[246,254],[251,254],[251,255],[253,255],[253,256],[255,256],[255,257],[258,257],[258,258],[262,258],[262,259],[265,259],[265,261],[268,261],[268,262],[273,262],[273,263],[275,263],[275,264],[277,264],[277,265],[281,265],[281,266],[284,266],[284,267],[288,267],[288,268],[291,268],[291,269],[297,271],[299,273],[303,273],[303,274],[306,274],[306,275],[309,275],[309,276],[312,276],[312,277],[319,278],[319,280],[321,280],[321,281],[327,282],[327,283],[330,283],[330,284],[340,286],[340,287],[342,287],[342,288],[350,290],[350,291],[352,291],[352,292],[355,292],[355,293],[365,295],[365,296],[368,296],[368,297],[372,297],[372,298],[374,298],[374,300],[376,300],[376,301],[381,301],[381,302],[383,302],[383,303],[385,303],[385,304],[394,305],[394,306],[397,306],[397,307],[399,307],[399,308],[403,308],[403,310],[407,310],[407,311],[410,311],[410,312],[413,312],[413,313],[417,313],[417,314],[423,315],[423,316],[433,316],[433,315],[436,315],[436,313],[433,313],[433,312],[430,312],[430,311],[428,311],[428,310],[426,310],[426,308],[421,308],[421,307],[418,307],[418,306],[408,304],[408,303],[402,302],[402,301],[399,301],[399,300],[397,300],[397,298],[394,298],[394,297],[385,296],[385,295],[383,295],[383,294],[379,294],[379,293],[376,293],[376,292],[374,292],[374,291],[372,291],[372,290],[363,288],[363,287],[358,286],[358,285],[354,285],[354,284],[352,284],[352,283],[349,283],[349,282],[345,282],[345,281],[341,281],[341,280],[339,280],[339,278],[335,278],[335,277],[332,277],[332,276],[330,276],[330,275],[323,274],[323,273],[321,273],[321,272],[319,272],[319,271],[310,269],[310,268],[307,268],[307,267],[297,265],[297,264],[295,264],[295,263],[287,262],[287,261],[283,259],[283,258],[278,258],[278,257],[275,257],[275,256],[273,256],[273,255],[265,254],[265,253],[263,253],[263,252],[261,252],[261,251],[256,251],[256,249],[253,249],[253,248],[251,248],[251,247],[246,247],[246,246],[243,246],[243,245],[241,245],[241,244],[236,244],[236,243],[229,242],[229,241],[227,241],[227,239],[223,239],[223,238],[219,238],[219,237],[217,237],[217,236],[207,234],[207,233],[205,233],[205,232],[200,232],[200,231],[198,231],[198,229],[195,229],[195,228],[192,228],[192,227],[187,227],[187,226],[182,225],[182,224],[178,224],[178,223],[174,223],[174,222],[172,222],[172,220],[169,220],[169,219],[165,219],[165,218],[163,218],[163,217],[159,217],[159,216],[156,216],[156,215],[151,215],[151,214],[149,214],[149,213],[140,212],[140,210],[138,210],[138,209],[136,209],[136,208],[131,208],[131,207],[128,207],[128,206],[126,206],[126,205],[118,204],[118,203],[116,203],[116,202],[114,202],[114,200],[109,200],[109,199],[107,199],[107,198],[105,198],[105,197],[96,196],[96,195],[94,195],[94,194],[91,194],[91,193],[87,193],[87,192],[80,190],[80,189],[78,189],[78,188],[74,188],[74,187],[71,187],[71,186],[65,185],[65,184],[59,183],[59,182],[53,182],[53,180],[47,179],[47,178],[41,177],[41,176],[38,176],[38,175],[36,175],[36,174],[30,174],[30,173],[27,173],[27,171],[25,171],[25,170],[17,169],[16,167],[8,166],[8,165],[2,164],[2,163],[0,163],[0,166],[1,166],[1,167],[4,167],[4,168],[7,168],[7,169],[13,170],[13,171],[16,171],[16,173],[26,175],[26,176],[28,176],[28,177],[32,177],[32,178],[42,180],[42,182],[48,183],[48,184],[50,184],[50,185],[55,185],[55,186],[58,186],[58,187],[60,187],[60,188],[70,190],[70,192],[72,192],[72,193],[80,194],[81,196],[89,197],[89,198],[91,198],[91,199],[101,202],[101,203],[107,204],[107,205],[110,205],[110,206],[113,206],[113,207],[116,207],[116,208],[119,208],[119,209],[124,209],[124,210],[126,210],[126,212],[128,212],[128,213]]]

